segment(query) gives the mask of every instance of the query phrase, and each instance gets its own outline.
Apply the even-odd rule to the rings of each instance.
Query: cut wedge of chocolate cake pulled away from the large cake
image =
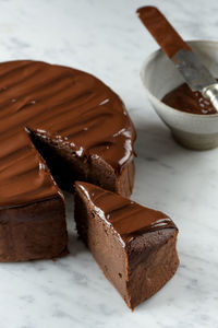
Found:
[[[174,274],[178,229],[166,214],[100,187],[75,183],[78,235],[130,308]]]

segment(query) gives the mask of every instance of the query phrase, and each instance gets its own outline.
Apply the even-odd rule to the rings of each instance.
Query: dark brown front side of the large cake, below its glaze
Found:
[[[0,210],[0,261],[49,259],[66,253],[62,197]]]

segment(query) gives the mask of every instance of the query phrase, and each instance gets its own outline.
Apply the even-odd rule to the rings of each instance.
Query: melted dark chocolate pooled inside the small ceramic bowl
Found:
[[[186,83],[166,94],[162,102],[181,112],[203,115],[217,113],[211,103],[205,99],[201,92],[193,92]]]

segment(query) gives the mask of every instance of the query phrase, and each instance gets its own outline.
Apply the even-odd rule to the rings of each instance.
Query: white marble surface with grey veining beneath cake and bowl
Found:
[[[157,45],[134,12],[150,2],[184,38],[218,38],[217,0],[1,0],[0,60],[72,66],[121,95],[138,134],[132,198],[178,224],[178,273],[131,313],[76,239],[68,195],[71,255],[0,263],[1,328],[218,327],[218,150],[175,144],[146,98],[138,72]]]

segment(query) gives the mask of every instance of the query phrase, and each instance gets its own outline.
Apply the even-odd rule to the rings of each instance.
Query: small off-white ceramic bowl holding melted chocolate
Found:
[[[218,78],[218,42],[187,42],[210,72]],[[197,115],[177,110],[160,99],[183,83],[173,63],[161,51],[153,52],[144,62],[141,78],[156,113],[170,128],[173,138],[194,150],[218,147],[218,114]]]

